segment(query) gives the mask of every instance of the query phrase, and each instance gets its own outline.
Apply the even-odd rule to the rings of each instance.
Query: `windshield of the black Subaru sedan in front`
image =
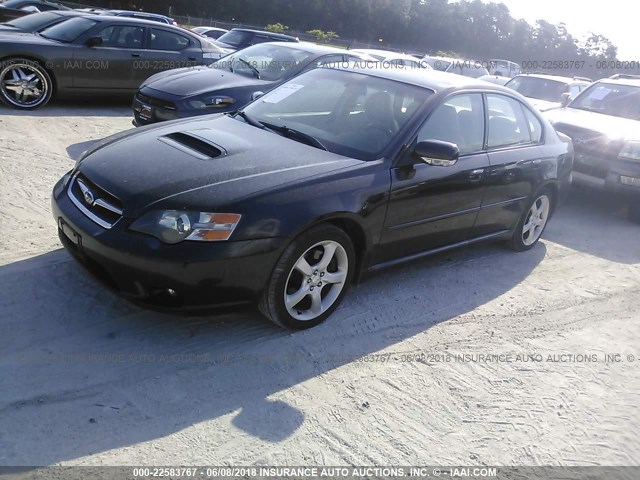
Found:
[[[318,68],[272,90],[245,112],[253,121],[312,137],[330,152],[374,160],[431,95],[426,88]]]

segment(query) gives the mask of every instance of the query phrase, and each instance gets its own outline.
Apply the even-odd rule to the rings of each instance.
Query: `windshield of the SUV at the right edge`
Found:
[[[640,120],[640,87],[595,83],[576,97],[569,107]]]

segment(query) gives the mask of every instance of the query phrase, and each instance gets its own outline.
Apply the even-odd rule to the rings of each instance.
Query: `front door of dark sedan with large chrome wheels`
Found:
[[[135,24],[100,24],[81,39],[74,52],[75,88],[133,91],[136,61],[140,59],[146,28]],[[98,37],[100,44],[87,44]]]

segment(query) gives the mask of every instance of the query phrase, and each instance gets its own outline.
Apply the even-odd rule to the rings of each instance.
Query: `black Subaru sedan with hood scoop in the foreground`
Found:
[[[235,115],[95,145],[54,187],[64,246],[123,295],[325,320],[363,274],[540,239],[572,146],[518,93],[441,72],[320,68]]]

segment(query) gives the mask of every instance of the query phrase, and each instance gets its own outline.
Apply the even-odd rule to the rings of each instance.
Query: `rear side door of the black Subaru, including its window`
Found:
[[[487,94],[486,104],[490,168],[475,235],[511,230],[547,166],[538,117],[507,95]]]

